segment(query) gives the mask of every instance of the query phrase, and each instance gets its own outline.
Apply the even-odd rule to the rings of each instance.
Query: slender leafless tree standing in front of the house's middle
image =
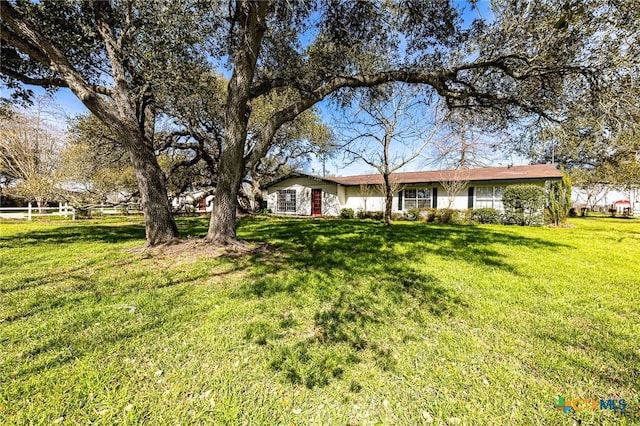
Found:
[[[438,117],[437,106],[415,89],[391,84],[361,94],[353,116],[340,124],[347,156],[382,175],[385,225],[391,224],[393,194],[399,188],[393,173],[415,160],[438,130],[437,120],[426,117]]]

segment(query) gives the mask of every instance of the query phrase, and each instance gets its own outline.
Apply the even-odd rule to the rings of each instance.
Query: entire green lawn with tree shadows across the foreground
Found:
[[[640,222],[572,224],[1,223],[0,423],[638,424]]]

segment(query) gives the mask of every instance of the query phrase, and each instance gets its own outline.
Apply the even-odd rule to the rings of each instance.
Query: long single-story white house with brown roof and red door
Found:
[[[394,173],[398,188],[395,213],[422,208],[502,210],[502,192],[515,184],[544,186],[561,180],[552,164]],[[382,176],[318,177],[292,173],[264,187],[267,208],[274,214],[337,216],[343,208],[383,211]]]

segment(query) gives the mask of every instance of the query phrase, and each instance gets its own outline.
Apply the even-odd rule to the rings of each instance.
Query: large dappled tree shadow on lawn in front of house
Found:
[[[268,299],[285,294],[294,306],[298,300],[308,304],[310,298],[312,305],[318,305],[313,336],[284,342],[285,333],[265,324],[257,332],[261,344],[270,343],[275,351],[271,368],[287,381],[309,388],[340,379],[345,368],[363,359],[393,370],[391,337],[377,335],[380,329],[404,321],[420,328],[468,306],[449,283],[426,272],[433,255],[518,274],[491,245],[561,247],[475,226],[247,219],[240,229],[242,238],[269,241],[280,254],[251,259],[252,279],[236,297]],[[255,342],[254,334],[247,331]]]

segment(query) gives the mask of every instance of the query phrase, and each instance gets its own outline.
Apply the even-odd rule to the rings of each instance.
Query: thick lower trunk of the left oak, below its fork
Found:
[[[125,136],[125,144],[138,181],[142,199],[142,212],[149,246],[166,243],[179,236],[171,206],[167,198],[165,176],[158,164],[155,153],[142,136]]]

